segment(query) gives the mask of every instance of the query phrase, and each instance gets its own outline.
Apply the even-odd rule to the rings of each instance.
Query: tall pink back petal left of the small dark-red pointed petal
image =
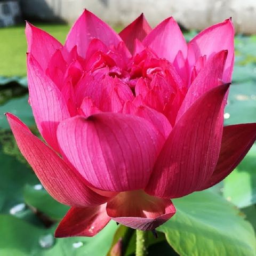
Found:
[[[96,17],[93,13],[85,10],[71,28],[65,47],[71,51],[77,46],[77,52],[86,57],[86,51],[93,38],[100,39],[107,46],[118,46],[122,39],[105,22]]]

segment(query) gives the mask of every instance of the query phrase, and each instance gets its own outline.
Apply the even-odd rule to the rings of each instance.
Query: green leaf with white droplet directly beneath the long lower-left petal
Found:
[[[62,219],[69,209],[69,206],[55,201],[40,184],[26,185],[23,196],[28,205],[35,207],[52,220]]]

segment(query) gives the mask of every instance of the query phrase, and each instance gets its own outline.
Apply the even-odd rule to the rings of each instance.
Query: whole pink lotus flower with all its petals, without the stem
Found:
[[[71,206],[55,235],[93,236],[110,219],[155,229],[170,198],[209,188],[242,160],[256,124],[223,127],[234,63],[225,20],[188,44],[173,18],[141,15],[119,35],[89,11],[65,45],[29,23],[29,101],[46,143],[7,114],[45,189]]]

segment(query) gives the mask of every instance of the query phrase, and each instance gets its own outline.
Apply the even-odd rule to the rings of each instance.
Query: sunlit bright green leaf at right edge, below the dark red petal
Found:
[[[224,180],[223,195],[238,207],[256,203],[256,145]]]

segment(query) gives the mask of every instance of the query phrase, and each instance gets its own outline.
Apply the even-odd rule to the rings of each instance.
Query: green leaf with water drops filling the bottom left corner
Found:
[[[95,237],[53,237],[54,228],[38,228],[10,215],[0,215],[1,256],[103,256],[106,255],[116,223],[110,222]]]

